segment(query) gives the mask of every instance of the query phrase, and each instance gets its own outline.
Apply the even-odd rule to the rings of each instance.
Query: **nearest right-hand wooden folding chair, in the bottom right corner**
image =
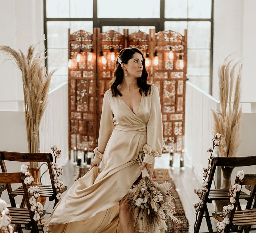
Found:
[[[256,191],[256,174],[245,174],[244,179],[241,181],[239,178],[236,179],[235,184],[240,184],[241,188],[243,185],[251,185],[251,194],[255,195]],[[234,209],[229,213],[229,224],[226,226],[224,233],[230,232],[230,230],[249,233],[251,226],[256,225],[256,208],[236,210],[239,205],[239,197],[241,190],[236,193],[236,202],[234,203]],[[254,203],[255,204],[255,203]],[[222,213],[214,213],[212,215],[215,219],[222,222],[225,218]],[[241,227],[241,229],[239,229]]]

